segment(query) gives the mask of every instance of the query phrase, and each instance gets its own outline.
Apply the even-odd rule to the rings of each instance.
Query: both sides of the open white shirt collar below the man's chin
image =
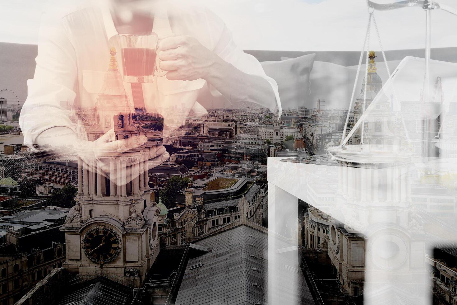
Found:
[[[103,24],[105,25],[106,36],[108,40],[110,40],[113,36],[118,34],[110,12],[111,1],[102,0],[100,1],[99,6],[101,16],[103,18]],[[173,32],[171,31],[167,8],[164,1],[154,3],[152,9],[154,10],[154,25],[152,31],[159,35],[160,38],[171,36]]]

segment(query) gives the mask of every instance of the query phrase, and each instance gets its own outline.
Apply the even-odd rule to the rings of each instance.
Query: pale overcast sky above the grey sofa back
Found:
[[[192,0],[189,0],[192,1]],[[0,41],[37,43],[46,0],[1,0]],[[365,0],[193,0],[206,5],[232,30],[243,49],[360,50],[367,27]],[[386,3],[389,0],[378,0]],[[440,3],[457,8],[455,0]],[[375,12],[385,49],[424,47],[425,11],[404,8]],[[432,47],[457,44],[457,16],[432,12]],[[372,32],[373,49],[378,49]]]

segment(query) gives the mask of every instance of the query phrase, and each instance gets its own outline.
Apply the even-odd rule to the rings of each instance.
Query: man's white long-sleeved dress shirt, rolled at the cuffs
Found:
[[[234,43],[223,21],[212,12],[173,5],[168,1],[151,1],[151,10],[154,11],[153,32],[159,37],[195,37],[203,46],[239,70],[268,80],[281,112],[275,80],[266,76],[255,57],[245,54]],[[117,34],[105,1],[90,5],[76,3],[71,7],[53,6],[52,10],[43,14],[37,67],[34,78],[27,82],[28,96],[19,120],[24,144],[32,148],[40,133],[57,126],[70,128],[83,136],[84,130],[80,130],[83,125],[78,122],[81,118],[76,115],[75,109],[84,109],[87,113],[93,111],[103,84],[103,75],[108,69],[111,57],[109,50],[112,47],[117,49],[117,64],[122,74]],[[153,83],[143,83],[146,110],[157,110],[171,129],[177,128],[183,124],[184,118],[182,113],[178,115],[171,111],[173,105],[180,109],[194,108],[199,91],[206,87],[205,82],[202,79],[183,81],[156,77]],[[130,84],[124,83],[124,87],[131,100]],[[209,89],[213,95],[220,94],[211,86]],[[131,111],[134,112],[133,102]],[[164,130],[164,137],[167,132],[173,130]]]

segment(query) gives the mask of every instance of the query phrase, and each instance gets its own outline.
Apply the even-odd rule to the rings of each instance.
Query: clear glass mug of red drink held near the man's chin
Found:
[[[152,83],[154,76],[165,76],[168,71],[157,70],[157,34],[120,34],[119,38],[125,82]]]

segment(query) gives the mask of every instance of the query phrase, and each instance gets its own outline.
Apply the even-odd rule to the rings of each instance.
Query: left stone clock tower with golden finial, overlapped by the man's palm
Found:
[[[87,138],[97,140],[114,129],[116,139],[145,134],[133,123],[134,109],[111,48],[109,68],[94,107]],[[159,254],[158,215],[150,201],[148,161],[156,145],[139,145],[96,157],[85,148],[78,159],[78,194],[61,230],[65,231],[64,267],[80,276],[99,274],[139,287]],[[109,169],[109,171],[107,170]]]

